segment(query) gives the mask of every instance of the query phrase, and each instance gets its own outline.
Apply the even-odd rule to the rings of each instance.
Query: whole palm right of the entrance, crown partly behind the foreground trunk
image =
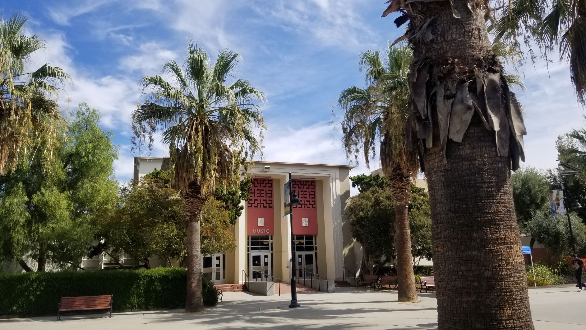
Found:
[[[405,122],[408,115],[407,75],[413,53],[390,45],[386,56],[380,52],[362,53],[360,64],[370,82],[367,89],[351,86],[343,90],[338,103],[346,112],[342,130],[346,153],[359,158],[363,153],[369,166],[380,142],[380,160],[384,176],[390,183],[395,208],[395,251],[399,301],[417,301],[411,256],[408,206],[411,177],[418,173],[417,152],[405,145]]]

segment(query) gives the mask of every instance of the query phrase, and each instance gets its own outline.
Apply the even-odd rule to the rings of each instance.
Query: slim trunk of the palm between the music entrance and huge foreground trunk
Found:
[[[411,177],[400,166],[393,168],[389,176],[395,206],[395,253],[397,259],[398,301],[417,301],[413,257],[411,255],[411,231],[409,228],[409,197]]]

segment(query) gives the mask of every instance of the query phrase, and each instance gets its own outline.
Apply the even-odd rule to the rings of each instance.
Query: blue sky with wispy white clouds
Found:
[[[130,114],[141,101],[138,82],[185,55],[188,38],[212,58],[225,48],[241,54],[236,78],[250,80],[267,96],[265,159],[347,164],[339,126],[328,124],[331,105],[341,117],[336,97],[347,86],[364,86],[359,52],[384,49],[387,39],[403,33],[394,27],[394,17],[380,18],[383,2],[8,0],[0,3],[0,15],[30,17],[28,32],[49,44],[32,65],[62,66],[73,79],[62,100],[100,110],[101,126],[112,130],[121,146],[115,170],[125,181],[135,156]],[[519,93],[530,134],[526,165],[553,167],[556,136],[583,124],[569,70],[554,57],[548,68],[539,60],[535,66],[525,63],[520,72],[527,86]],[[288,150],[291,144],[299,147]],[[157,141],[151,156],[165,154]],[[359,166],[353,174],[365,171]]]

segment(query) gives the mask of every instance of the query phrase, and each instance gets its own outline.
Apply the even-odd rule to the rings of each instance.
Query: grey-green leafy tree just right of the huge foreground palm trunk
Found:
[[[517,222],[522,231],[527,224],[544,212],[544,207],[549,207],[550,184],[546,173],[525,167],[517,170],[511,176],[513,186],[513,201],[515,201],[515,213]]]

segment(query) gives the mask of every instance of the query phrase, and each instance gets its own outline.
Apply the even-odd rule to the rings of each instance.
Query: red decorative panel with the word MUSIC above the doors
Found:
[[[274,235],[272,179],[257,178],[252,181],[246,213],[248,235]]]

